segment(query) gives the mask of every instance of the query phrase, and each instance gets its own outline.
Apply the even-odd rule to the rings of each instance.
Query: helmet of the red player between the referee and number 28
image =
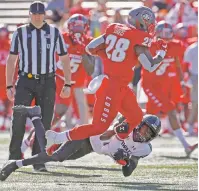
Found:
[[[89,28],[89,21],[87,17],[82,14],[74,14],[72,15],[68,21],[68,30],[70,33],[87,33]]]

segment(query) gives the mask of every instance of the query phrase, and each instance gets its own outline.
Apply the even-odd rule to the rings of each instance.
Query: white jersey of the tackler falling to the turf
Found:
[[[90,143],[94,150],[94,152],[98,154],[105,154],[111,156],[110,153],[112,153],[111,150],[108,152],[104,152],[102,147],[106,144],[109,144],[110,140],[101,141],[100,140],[101,135],[92,136],[90,137]],[[124,141],[121,142],[120,147],[121,149],[128,152],[130,155],[137,156],[137,157],[145,157],[148,156],[152,151],[152,146],[150,143],[139,143],[133,141],[133,132],[129,135],[128,138],[126,138]],[[118,149],[119,149],[118,148]]]

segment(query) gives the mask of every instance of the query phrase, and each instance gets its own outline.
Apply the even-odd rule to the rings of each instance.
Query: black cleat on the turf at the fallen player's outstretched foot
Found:
[[[4,181],[12,172],[18,169],[16,160],[9,160],[0,171],[0,180]]]

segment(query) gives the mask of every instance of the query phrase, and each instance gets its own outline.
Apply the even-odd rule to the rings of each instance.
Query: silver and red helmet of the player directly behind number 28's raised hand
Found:
[[[166,21],[160,21],[156,25],[155,33],[158,38],[172,39],[173,38],[172,25],[167,23]]]

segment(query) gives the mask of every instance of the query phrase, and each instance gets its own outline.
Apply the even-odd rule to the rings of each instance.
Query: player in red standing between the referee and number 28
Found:
[[[92,74],[94,67],[91,64],[87,65],[87,62],[83,61],[82,55],[85,54],[85,46],[92,40],[92,37],[86,35],[89,23],[85,16],[74,14],[68,19],[67,24],[68,32],[63,34],[63,38],[71,61],[71,79],[75,83],[72,85],[70,98],[59,98],[58,102],[67,106],[72,104],[79,118],[79,124],[86,124],[88,123],[88,104],[83,88],[87,75]],[[63,68],[59,62],[57,65],[59,68],[57,72],[57,92],[60,93],[64,85],[64,81],[61,79]]]

